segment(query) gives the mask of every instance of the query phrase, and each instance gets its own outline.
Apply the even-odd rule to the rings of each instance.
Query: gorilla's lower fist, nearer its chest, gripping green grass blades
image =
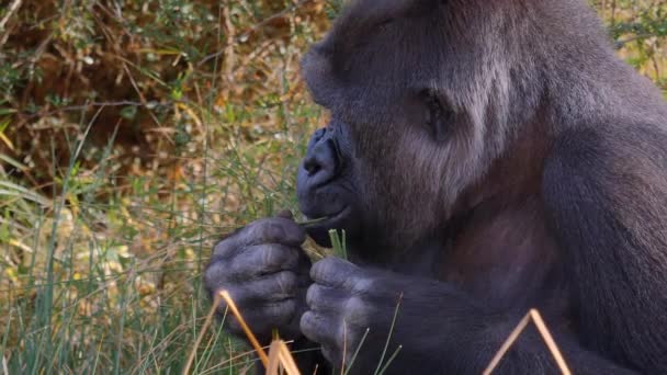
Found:
[[[339,258],[315,263],[310,270],[313,285],[306,295],[309,310],[301,319],[302,332],[321,344],[323,354],[335,366],[343,363],[343,353],[344,363],[349,364],[360,349],[352,371],[372,372],[381,360],[402,298],[394,276],[398,275],[362,269]],[[395,344],[387,357],[394,350]]]

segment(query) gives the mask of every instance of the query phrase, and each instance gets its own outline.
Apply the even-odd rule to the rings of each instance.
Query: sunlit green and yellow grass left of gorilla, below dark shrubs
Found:
[[[317,121],[319,111],[304,111]],[[210,306],[200,285],[210,249],[234,226],[295,208],[294,144],[305,127],[284,130],[293,141],[210,150],[195,164],[208,172],[178,182],[114,175],[104,163],[81,174],[77,150],[89,128],[72,139],[68,168],[54,171],[55,198],[2,184],[0,352],[10,374],[178,373]],[[272,156],[292,167],[275,172]],[[196,373],[250,360],[225,364],[238,350],[218,328],[197,350]]]

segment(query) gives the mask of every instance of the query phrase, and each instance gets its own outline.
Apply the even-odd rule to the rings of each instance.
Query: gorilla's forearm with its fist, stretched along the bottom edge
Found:
[[[338,366],[343,352],[347,366],[361,348],[353,360],[353,374],[371,374],[383,367],[398,345],[402,348],[389,374],[410,370],[479,374],[525,312],[491,314],[449,284],[362,269],[336,258],[316,263],[310,275],[315,284],[308,289],[310,310],[302,317],[302,331],[321,343],[325,356]],[[360,346],[365,328],[370,331]],[[389,344],[380,364],[389,331]],[[527,330],[495,373],[557,373],[541,340]],[[576,373],[631,373],[586,352],[567,336],[556,332],[556,340]]]

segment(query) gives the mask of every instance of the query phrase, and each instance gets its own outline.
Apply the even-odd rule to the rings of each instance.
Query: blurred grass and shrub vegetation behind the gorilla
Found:
[[[341,0],[0,0],[0,374],[178,373],[222,235],[295,209]],[[667,92],[667,3],[596,0]],[[214,327],[194,371],[241,372]]]

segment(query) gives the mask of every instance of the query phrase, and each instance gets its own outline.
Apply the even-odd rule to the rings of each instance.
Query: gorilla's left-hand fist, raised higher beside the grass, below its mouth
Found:
[[[301,249],[306,235],[289,212],[251,223],[217,243],[204,284],[210,293],[227,289],[252,332],[262,343],[278,329],[286,340],[301,337],[298,321],[310,284],[310,261]],[[223,304],[219,311],[224,312]],[[226,318],[235,334],[241,328]]]

